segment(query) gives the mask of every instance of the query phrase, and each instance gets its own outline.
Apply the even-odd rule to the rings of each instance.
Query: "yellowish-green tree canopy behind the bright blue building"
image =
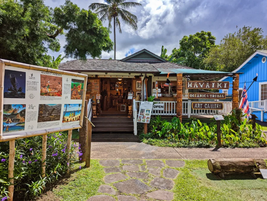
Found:
[[[266,50],[267,37],[261,28],[244,26],[233,34],[227,34],[219,45],[211,48],[204,63],[208,69],[232,72],[255,50]]]

